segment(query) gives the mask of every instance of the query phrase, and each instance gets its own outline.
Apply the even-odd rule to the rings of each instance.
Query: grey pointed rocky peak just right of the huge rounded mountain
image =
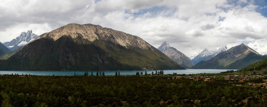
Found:
[[[194,65],[185,54],[171,47],[166,41],[157,49],[185,68],[190,68]]]

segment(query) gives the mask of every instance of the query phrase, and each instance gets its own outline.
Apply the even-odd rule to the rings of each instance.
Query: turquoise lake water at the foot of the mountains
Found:
[[[228,69],[229,70],[229,69]],[[234,70],[234,69],[231,69]],[[147,73],[151,74],[152,71],[155,73],[156,70],[148,70]],[[159,71],[159,70],[157,70]],[[164,70],[164,74],[197,74],[197,73],[220,73],[227,71],[227,69],[187,69],[187,70]],[[236,71],[236,70],[234,70]],[[74,73],[78,75],[84,75],[85,71],[0,71],[0,74],[30,74],[30,75],[74,75]],[[93,75],[96,75],[97,71],[93,71]],[[105,72],[105,75],[115,75],[116,71],[102,71]],[[117,71],[120,73],[120,75],[136,75],[136,72],[143,72],[145,74],[144,70],[136,70],[136,71]],[[91,75],[91,71],[88,72],[89,75]]]

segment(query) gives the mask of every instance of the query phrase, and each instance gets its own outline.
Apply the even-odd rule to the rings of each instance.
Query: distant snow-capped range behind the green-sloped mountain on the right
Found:
[[[190,59],[192,60],[194,64],[197,64],[200,61],[208,61],[209,59],[213,58],[217,54],[220,54],[226,50],[227,50],[227,47],[225,45],[222,45],[217,51],[208,50],[206,48],[198,55],[191,56]]]

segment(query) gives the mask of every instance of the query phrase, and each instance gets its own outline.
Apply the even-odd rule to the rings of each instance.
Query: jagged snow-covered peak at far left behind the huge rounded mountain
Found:
[[[27,33],[22,32],[16,39],[11,40],[10,42],[4,42],[3,44],[11,51],[14,51],[19,47],[26,45],[36,37],[38,37],[38,35],[33,34],[32,30],[29,30]]]

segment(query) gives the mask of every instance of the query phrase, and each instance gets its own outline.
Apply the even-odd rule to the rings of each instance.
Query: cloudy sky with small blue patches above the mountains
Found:
[[[0,0],[0,42],[91,23],[190,57],[241,43],[267,54],[267,0]]]

